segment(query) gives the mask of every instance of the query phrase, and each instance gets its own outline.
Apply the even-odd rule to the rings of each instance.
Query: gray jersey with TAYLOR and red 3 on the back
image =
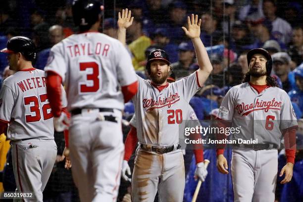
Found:
[[[72,35],[53,46],[45,71],[65,83],[68,110],[124,108],[121,86],[137,81],[125,47],[101,33]]]

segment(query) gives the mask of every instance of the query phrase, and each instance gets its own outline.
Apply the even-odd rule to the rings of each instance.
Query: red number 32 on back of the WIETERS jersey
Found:
[[[48,100],[47,94],[39,96],[40,102],[43,103]],[[31,104],[33,103],[33,104]],[[26,123],[38,122],[41,120],[40,104],[37,96],[31,96],[24,98],[24,105],[30,105],[30,115],[25,115]],[[50,103],[44,103],[41,107],[43,120],[48,120],[52,118],[52,113],[50,109]]]

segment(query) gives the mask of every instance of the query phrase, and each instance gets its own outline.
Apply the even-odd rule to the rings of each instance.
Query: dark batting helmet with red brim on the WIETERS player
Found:
[[[36,59],[36,46],[33,41],[27,37],[17,36],[10,38],[6,48],[0,51],[7,53],[21,52],[25,59],[32,62]]]

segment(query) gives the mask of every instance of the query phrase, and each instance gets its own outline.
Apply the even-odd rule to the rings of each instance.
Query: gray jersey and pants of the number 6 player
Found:
[[[217,117],[240,128],[241,133],[232,136],[236,141],[252,139],[257,140],[257,144],[267,143],[278,147],[281,130],[298,125],[285,91],[267,87],[258,94],[249,83],[228,91]],[[274,201],[277,172],[277,150],[234,148],[231,162],[234,201]]]

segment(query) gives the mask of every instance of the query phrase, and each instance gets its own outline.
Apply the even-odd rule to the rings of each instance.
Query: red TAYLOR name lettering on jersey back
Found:
[[[95,47],[93,47],[95,46]],[[91,47],[93,49],[91,49]],[[72,46],[67,46],[69,50],[69,54],[71,57],[75,56],[83,56],[83,55],[100,55],[107,56],[107,52],[109,50],[109,44],[96,43],[95,45],[91,45],[90,43],[84,44],[74,44]],[[92,51],[93,50],[93,51]]]

